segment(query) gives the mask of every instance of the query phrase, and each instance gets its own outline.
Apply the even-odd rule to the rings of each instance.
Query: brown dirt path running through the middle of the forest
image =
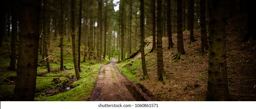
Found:
[[[117,58],[112,58],[110,63],[102,65],[98,81],[89,100],[92,101],[136,101],[126,84],[134,84],[123,76],[115,66]]]

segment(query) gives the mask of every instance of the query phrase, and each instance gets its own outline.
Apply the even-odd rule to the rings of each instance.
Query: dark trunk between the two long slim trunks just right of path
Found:
[[[152,46],[152,50],[151,50],[151,52],[153,52],[155,49],[156,49],[156,44],[155,44],[155,30],[156,30],[156,28],[155,28],[155,19],[156,19],[156,17],[155,17],[155,0],[151,0],[151,2],[152,2],[152,15],[153,15],[153,46]]]

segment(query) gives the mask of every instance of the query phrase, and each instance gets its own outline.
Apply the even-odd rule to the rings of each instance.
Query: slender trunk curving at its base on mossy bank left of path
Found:
[[[75,67],[75,75],[77,80],[79,80],[79,70],[77,65],[77,55],[75,53],[75,0],[71,0],[71,30],[72,30],[72,54],[73,54],[73,62]]]

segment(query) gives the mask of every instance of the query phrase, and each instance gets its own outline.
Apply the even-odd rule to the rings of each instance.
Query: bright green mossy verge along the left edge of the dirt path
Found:
[[[57,95],[44,97],[39,101],[83,101],[90,96],[93,90],[94,84],[98,78],[98,71],[102,64],[83,66],[82,72],[80,72],[81,79],[75,81],[71,86],[75,87],[64,93]],[[75,74],[75,73],[73,73]],[[52,73],[50,75],[53,75]],[[50,84],[47,84],[50,85]],[[39,98],[39,97],[38,97]],[[36,99],[36,98],[35,98]]]

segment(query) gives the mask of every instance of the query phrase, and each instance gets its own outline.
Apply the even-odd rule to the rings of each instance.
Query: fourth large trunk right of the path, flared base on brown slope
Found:
[[[167,34],[168,34],[168,49],[173,47],[172,42],[172,25],[171,25],[171,1],[167,0]]]

